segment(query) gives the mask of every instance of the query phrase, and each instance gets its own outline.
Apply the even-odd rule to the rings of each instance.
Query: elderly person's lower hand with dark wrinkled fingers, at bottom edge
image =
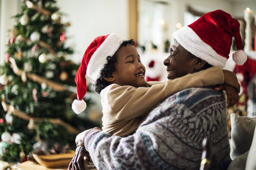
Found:
[[[72,158],[70,164],[68,165],[68,170],[85,170],[83,159],[88,156],[88,152],[85,150],[85,146],[78,146],[75,149],[75,155]]]

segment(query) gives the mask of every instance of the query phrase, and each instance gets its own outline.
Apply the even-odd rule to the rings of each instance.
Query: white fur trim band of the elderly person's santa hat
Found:
[[[181,29],[175,31],[172,34],[172,37],[175,38],[186,50],[198,58],[205,60],[210,65],[218,65],[221,68],[225,67],[227,59],[217,54],[211,46],[203,42],[190,27],[183,26]]]

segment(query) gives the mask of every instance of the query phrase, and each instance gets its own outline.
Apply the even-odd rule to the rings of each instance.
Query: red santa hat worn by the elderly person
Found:
[[[173,33],[175,38],[186,50],[210,65],[224,68],[235,37],[238,51],[233,53],[233,60],[243,65],[247,59],[242,50],[240,24],[223,10],[206,13],[198,20]]]

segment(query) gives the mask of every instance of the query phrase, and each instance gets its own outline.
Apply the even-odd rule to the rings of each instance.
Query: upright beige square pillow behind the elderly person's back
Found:
[[[256,125],[256,118],[239,116],[232,113],[231,120],[231,142],[230,157],[234,160],[237,156],[243,155],[250,149]]]

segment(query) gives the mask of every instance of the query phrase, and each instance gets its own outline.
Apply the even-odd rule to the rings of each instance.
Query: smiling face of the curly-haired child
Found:
[[[145,67],[133,45],[122,46],[117,52],[113,83],[120,86],[145,87]]]

